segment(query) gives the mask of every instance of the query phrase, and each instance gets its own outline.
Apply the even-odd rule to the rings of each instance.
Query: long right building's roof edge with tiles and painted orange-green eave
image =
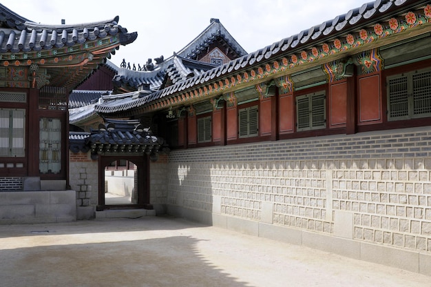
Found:
[[[374,1],[260,50],[142,98],[96,106],[101,115],[127,115],[180,106],[431,31],[429,1]],[[397,37],[395,37],[397,36]]]

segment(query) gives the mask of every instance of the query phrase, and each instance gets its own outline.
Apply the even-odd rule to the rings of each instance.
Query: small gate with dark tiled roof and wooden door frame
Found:
[[[149,197],[149,161],[159,152],[169,152],[165,141],[154,135],[138,120],[107,120],[87,138],[92,157],[98,157],[98,206],[101,211],[112,208],[153,209]],[[113,161],[134,164],[134,192],[129,204],[107,203],[105,199],[105,167]]]

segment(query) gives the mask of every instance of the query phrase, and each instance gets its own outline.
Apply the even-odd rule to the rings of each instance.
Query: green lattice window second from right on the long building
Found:
[[[324,92],[296,98],[297,130],[326,128],[326,101]]]

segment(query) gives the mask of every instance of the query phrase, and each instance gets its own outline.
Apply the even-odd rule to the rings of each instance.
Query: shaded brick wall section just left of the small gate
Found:
[[[90,152],[70,152],[70,186],[76,190],[76,206],[96,206],[98,203],[98,162]]]

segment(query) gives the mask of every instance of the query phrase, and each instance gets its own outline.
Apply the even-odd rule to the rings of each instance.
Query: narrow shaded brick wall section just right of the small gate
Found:
[[[157,161],[150,162],[150,203],[166,204],[167,203],[167,170],[168,156],[160,155]]]

